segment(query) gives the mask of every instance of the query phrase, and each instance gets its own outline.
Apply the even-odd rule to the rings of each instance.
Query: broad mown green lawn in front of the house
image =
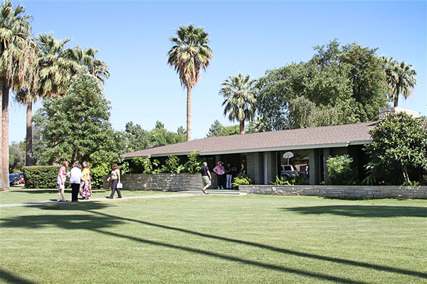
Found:
[[[427,283],[425,200],[207,195],[0,213],[6,283]]]

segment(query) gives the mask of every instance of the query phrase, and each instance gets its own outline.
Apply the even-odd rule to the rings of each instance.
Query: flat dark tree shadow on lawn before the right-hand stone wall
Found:
[[[427,207],[409,206],[328,205],[282,209],[301,214],[334,214],[347,217],[427,217]]]

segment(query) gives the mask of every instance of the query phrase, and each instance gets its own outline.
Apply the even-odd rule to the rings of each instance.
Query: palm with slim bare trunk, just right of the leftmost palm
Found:
[[[71,70],[74,62],[64,53],[64,46],[70,39],[56,40],[53,35],[39,35],[38,81],[34,89],[28,92],[22,89],[16,94],[16,101],[26,105],[26,165],[33,165],[33,103],[40,98],[62,96],[68,91]]]

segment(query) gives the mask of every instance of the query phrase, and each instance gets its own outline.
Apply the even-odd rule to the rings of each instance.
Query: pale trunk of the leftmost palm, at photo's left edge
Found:
[[[9,87],[1,86],[1,190],[9,190]]]

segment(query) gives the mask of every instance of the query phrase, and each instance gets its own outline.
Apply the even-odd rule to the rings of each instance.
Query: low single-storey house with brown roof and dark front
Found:
[[[376,122],[366,122],[214,136],[125,153],[122,158],[149,157],[162,160],[168,155],[176,155],[184,159],[189,153],[198,151],[206,158],[209,168],[218,160],[222,160],[239,170],[241,161],[245,160],[248,177],[255,184],[266,185],[275,180],[276,175],[280,175],[280,165],[288,163],[287,159],[283,158],[283,153],[291,151],[294,157],[290,159],[290,164],[299,165],[299,170],[304,165],[310,165],[310,185],[319,185],[328,180],[326,160],[330,155],[351,155],[359,175],[364,175],[363,165],[367,163],[367,155],[363,146],[371,142],[369,129],[375,124]]]

